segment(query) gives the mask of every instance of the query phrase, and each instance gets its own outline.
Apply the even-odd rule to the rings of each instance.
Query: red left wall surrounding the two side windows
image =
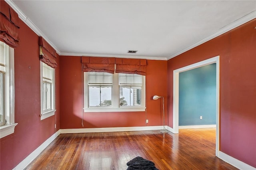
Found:
[[[20,21],[20,46],[14,50],[15,127],[0,139],[0,169],[9,170],[55,133],[55,117],[40,120],[39,37]],[[57,57],[59,63],[59,57]],[[59,67],[56,68],[56,118],[60,128]]]

